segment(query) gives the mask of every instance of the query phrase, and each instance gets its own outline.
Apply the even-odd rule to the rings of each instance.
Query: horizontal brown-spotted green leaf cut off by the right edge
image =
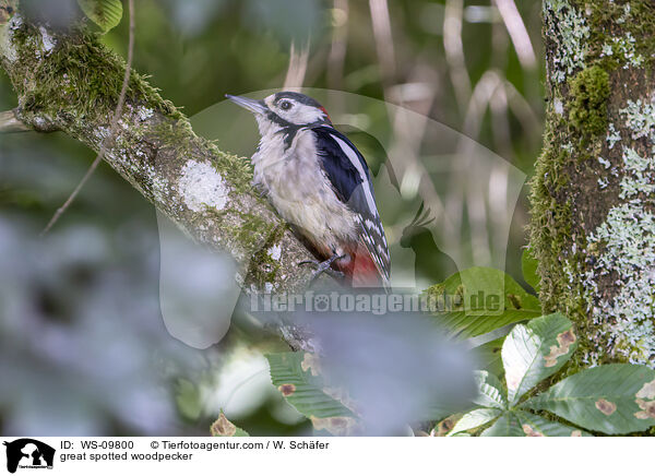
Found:
[[[611,364],[583,370],[525,401],[588,430],[607,435],[644,431],[655,425],[655,370]]]

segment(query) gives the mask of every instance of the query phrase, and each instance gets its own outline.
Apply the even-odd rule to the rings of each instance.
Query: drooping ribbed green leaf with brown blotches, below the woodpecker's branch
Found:
[[[355,414],[334,396],[319,373],[313,354],[267,354],[271,380],[286,401],[311,419],[317,431],[348,435],[356,426]]]

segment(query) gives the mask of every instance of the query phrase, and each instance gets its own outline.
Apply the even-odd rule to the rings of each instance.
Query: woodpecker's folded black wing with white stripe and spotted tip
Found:
[[[317,134],[317,152],[325,175],[340,200],[357,213],[361,241],[388,285],[391,257],[368,165],[357,147],[336,129],[320,126],[312,131]]]

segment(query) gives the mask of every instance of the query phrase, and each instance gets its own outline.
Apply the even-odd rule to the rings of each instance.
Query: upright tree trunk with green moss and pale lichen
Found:
[[[531,249],[579,367],[655,367],[655,2],[544,0],[547,117]]]

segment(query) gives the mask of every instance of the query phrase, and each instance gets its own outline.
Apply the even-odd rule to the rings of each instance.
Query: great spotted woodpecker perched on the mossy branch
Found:
[[[252,156],[254,183],[324,260],[315,274],[388,288],[391,259],[368,165],[325,109],[291,92],[263,100],[226,97],[254,114],[261,135]]]

